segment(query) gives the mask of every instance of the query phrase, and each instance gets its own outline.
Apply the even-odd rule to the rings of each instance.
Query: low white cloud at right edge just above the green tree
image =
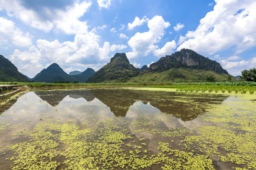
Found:
[[[232,59],[232,58],[231,58]],[[229,74],[233,76],[241,75],[241,71],[245,69],[255,68],[256,66],[256,57],[250,60],[241,60],[241,61],[229,61],[228,59],[219,60],[219,63],[224,69],[227,69]]]

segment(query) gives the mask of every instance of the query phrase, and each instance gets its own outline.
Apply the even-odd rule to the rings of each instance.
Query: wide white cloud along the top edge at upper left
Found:
[[[87,23],[80,21],[79,18],[84,15],[90,6],[90,1],[75,2],[65,9],[44,7],[44,13],[39,13],[26,8],[19,0],[0,1],[0,11],[5,10],[10,17],[16,17],[25,24],[46,32],[58,29],[66,34],[87,31]]]

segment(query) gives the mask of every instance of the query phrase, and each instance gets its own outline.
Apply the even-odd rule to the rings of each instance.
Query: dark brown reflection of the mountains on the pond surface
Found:
[[[125,117],[129,107],[135,102],[149,103],[166,114],[188,121],[206,112],[211,104],[221,103],[227,98],[213,94],[183,94],[165,91],[146,91],[129,89],[82,89],[67,91],[35,92],[43,101],[57,106],[66,96],[74,99],[84,98],[91,102],[95,98],[110,108],[116,117]]]

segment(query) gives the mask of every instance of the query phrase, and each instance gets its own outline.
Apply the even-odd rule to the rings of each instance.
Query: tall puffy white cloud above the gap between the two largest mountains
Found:
[[[149,28],[148,32],[136,33],[128,41],[128,45],[132,48],[132,52],[127,53],[128,59],[135,58],[138,55],[143,57],[149,53],[155,52],[158,48],[155,43],[162,39],[165,34],[165,29],[170,26],[170,23],[165,22],[161,16],[155,16],[148,21],[147,26]],[[166,44],[167,46],[170,46],[170,42],[167,42]]]

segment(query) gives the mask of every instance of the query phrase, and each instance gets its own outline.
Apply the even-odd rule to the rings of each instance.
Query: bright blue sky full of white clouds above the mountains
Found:
[[[32,78],[52,63],[137,68],[183,48],[233,76],[256,68],[255,0],[0,0],[0,54]]]

